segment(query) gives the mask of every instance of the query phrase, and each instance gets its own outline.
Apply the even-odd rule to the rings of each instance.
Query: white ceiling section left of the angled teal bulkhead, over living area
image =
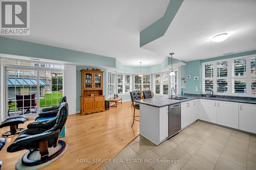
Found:
[[[169,0],[33,0],[30,36],[10,38],[154,65],[166,57],[139,47],[139,32],[164,15]],[[72,57],[72,56],[71,56]]]

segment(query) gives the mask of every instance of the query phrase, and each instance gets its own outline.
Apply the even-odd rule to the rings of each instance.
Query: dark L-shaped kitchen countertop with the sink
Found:
[[[240,96],[217,95],[215,97],[206,98],[205,96],[201,96],[201,95],[197,95],[197,94],[185,94],[183,97],[187,98],[187,99],[173,100],[173,99],[168,99],[169,96],[160,96],[158,98],[136,100],[135,102],[153,106],[153,107],[164,107],[164,106],[168,106],[168,105],[174,105],[177,103],[187,102],[187,101],[194,100],[194,99],[206,99],[206,100],[218,100],[218,101],[227,101],[227,102],[256,104],[256,98],[247,98],[247,97],[240,97]]]

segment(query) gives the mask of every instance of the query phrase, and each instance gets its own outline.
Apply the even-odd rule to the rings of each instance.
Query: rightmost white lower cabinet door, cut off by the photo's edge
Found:
[[[256,105],[239,104],[239,129],[256,133]]]

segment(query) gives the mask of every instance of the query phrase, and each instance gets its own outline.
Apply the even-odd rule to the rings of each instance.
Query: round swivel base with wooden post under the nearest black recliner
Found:
[[[40,154],[41,159],[36,159],[36,160],[29,159],[30,155],[34,152],[34,151],[29,151],[23,156],[22,163],[26,166],[35,166],[35,165],[39,165],[39,164],[42,164],[42,163],[45,163],[47,161],[54,159],[59,154],[61,154],[61,152],[66,148],[65,141],[58,140],[58,143],[61,144],[60,149],[58,151],[56,151],[54,154],[49,156],[48,141],[40,142],[39,143],[39,154]]]

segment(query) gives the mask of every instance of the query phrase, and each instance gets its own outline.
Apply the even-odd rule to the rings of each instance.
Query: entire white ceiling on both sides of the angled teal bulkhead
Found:
[[[155,65],[174,52],[184,61],[256,50],[255,0],[184,0],[163,37],[139,47],[139,32],[164,15],[169,0],[33,0],[30,36],[10,38]],[[208,39],[232,35],[223,42]],[[71,56],[72,57],[72,56]]]

